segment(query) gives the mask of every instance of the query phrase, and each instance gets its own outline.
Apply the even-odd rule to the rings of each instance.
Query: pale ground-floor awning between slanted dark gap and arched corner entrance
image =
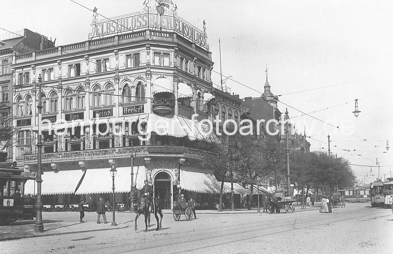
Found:
[[[129,192],[131,190],[131,167],[116,169],[114,178],[114,192]],[[143,186],[143,175],[146,176],[145,167],[134,167],[134,179],[137,187]],[[112,177],[109,168],[87,169],[86,175],[75,194],[112,193]]]

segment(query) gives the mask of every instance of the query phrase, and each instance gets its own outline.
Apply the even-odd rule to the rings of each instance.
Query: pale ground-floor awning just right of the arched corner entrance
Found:
[[[183,190],[219,194],[221,185],[211,171],[197,168],[181,169],[180,186]]]

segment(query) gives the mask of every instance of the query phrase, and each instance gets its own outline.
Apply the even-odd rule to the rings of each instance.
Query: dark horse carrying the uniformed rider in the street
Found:
[[[145,231],[147,231],[147,220],[149,220],[149,226],[150,226],[150,201],[147,197],[143,197],[142,194],[140,193],[140,190],[137,187],[133,187],[131,189],[131,194],[130,194],[130,201],[131,202],[137,202],[138,209],[137,211],[137,216],[135,217],[135,231],[138,230],[137,227],[137,220],[138,217],[143,214],[144,215],[144,224],[146,225]],[[158,199],[154,198],[153,199],[153,209],[154,209],[154,217],[157,220],[157,229],[161,228],[161,221],[163,220],[163,213],[162,209],[164,208],[164,203]],[[160,220],[158,219],[157,212],[160,214]]]

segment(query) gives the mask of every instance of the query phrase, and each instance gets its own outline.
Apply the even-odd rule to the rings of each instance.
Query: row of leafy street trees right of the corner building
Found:
[[[286,150],[277,140],[238,132],[233,135],[223,133],[196,141],[196,147],[210,152],[203,159],[202,167],[214,170],[216,178],[222,181],[219,210],[222,208],[224,180],[235,172],[250,184],[251,193],[258,179],[268,180],[276,188],[285,180]],[[298,189],[300,186],[301,189],[321,189],[330,193],[336,186],[353,186],[355,181],[347,160],[329,157],[324,152],[291,152],[289,165],[291,182]],[[248,209],[251,209],[252,196]]]

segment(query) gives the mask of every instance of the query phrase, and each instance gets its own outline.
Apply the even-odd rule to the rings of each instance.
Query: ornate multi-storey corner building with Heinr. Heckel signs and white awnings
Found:
[[[204,204],[203,193],[216,193],[203,189],[216,180],[198,169],[204,152],[193,140],[202,120],[239,123],[242,101],[213,87],[205,24],[199,29],[176,10],[170,0],[150,0],[140,12],[98,20],[95,8],[88,41],[12,56],[13,160],[33,171],[42,80],[44,204],[111,199],[108,159],[117,166],[115,202],[146,178],[166,208],[178,188]],[[25,193],[34,195],[33,184]]]

